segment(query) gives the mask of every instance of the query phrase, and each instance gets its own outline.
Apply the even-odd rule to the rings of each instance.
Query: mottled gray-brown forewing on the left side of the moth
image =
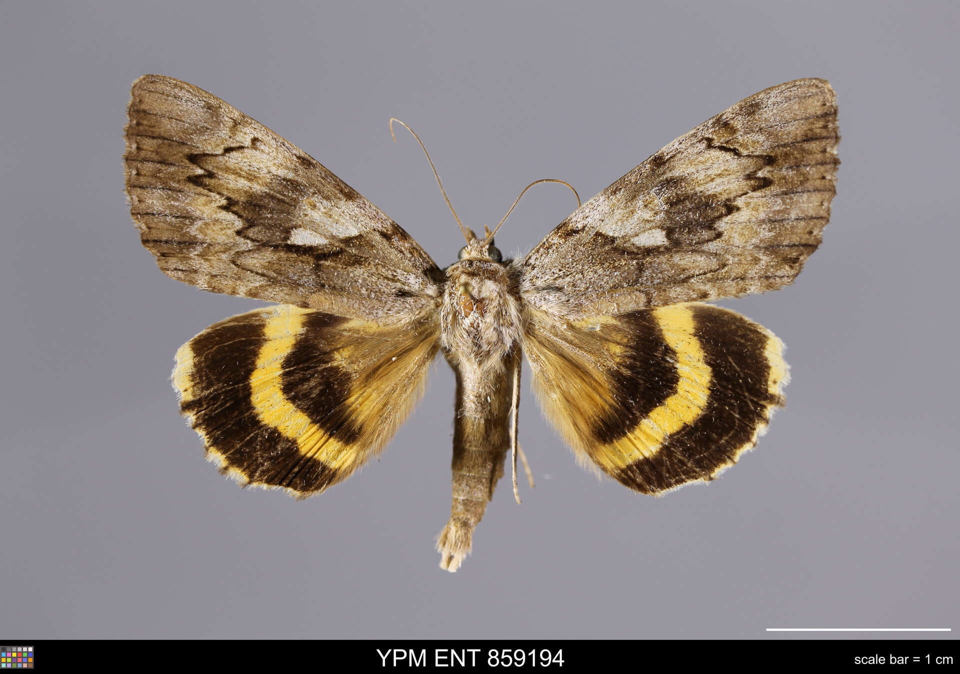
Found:
[[[440,270],[403,229],[216,96],[146,75],[128,116],[132,216],[167,276],[374,320],[436,296]]]

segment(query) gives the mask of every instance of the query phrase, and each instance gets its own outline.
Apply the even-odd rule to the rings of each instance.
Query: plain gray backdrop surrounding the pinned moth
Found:
[[[0,635],[960,627],[955,3],[265,5],[0,8]],[[788,345],[787,408],[721,480],[655,499],[579,469],[525,394],[537,489],[517,506],[501,484],[456,574],[433,550],[450,500],[443,361],[347,483],[302,502],[238,489],[204,462],[168,376],[181,343],[258,303],[164,277],[140,246],[120,156],[144,73],[291,139],[441,266],[463,239],[391,116],[482,228],[529,181],[589,198],[741,98],[828,78],[843,166],[824,245],[792,287],[726,302]],[[498,244],[525,252],[573,207],[539,186]]]

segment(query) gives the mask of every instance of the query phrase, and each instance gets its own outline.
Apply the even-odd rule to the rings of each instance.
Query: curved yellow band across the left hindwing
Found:
[[[308,309],[279,306],[264,325],[264,344],[250,379],[251,400],[257,417],[297,443],[300,453],[331,469],[345,469],[356,459],[348,445],[331,438],[283,395],[283,359],[294,348]]]

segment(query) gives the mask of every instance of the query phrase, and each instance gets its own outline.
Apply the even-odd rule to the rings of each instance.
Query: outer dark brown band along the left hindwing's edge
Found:
[[[180,349],[174,374],[180,413],[204,438],[208,455],[221,461],[221,472],[305,496],[336,482],[338,471],[304,456],[294,440],[260,421],[253,407],[251,376],[268,315],[261,310],[234,316]]]

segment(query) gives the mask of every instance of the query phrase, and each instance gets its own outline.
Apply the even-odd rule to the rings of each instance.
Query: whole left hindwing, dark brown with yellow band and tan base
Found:
[[[180,411],[243,484],[298,497],[346,479],[393,437],[437,353],[429,323],[384,327],[279,305],[180,347]]]

